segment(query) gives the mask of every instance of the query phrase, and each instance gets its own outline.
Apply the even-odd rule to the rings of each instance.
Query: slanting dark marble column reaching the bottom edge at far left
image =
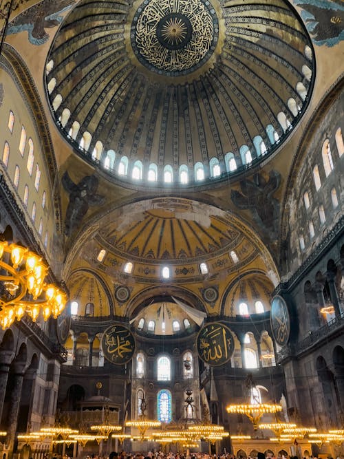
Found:
[[[21,401],[21,389],[23,387],[23,378],[24,378],[24,365],[20,363],[14,365],[14,378],[12,380],[11,388],[11,403],[10,409],[8,411],[8,457],[11,459],[13,455],[14,439],[17,431],[17,421],[19,414],[19,404]]]

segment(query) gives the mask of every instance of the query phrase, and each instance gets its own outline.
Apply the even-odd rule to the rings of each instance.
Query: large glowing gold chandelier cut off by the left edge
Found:
[[[33,321],[42,311],[46,321],[61,314],[67,296],[53,284],[46,284],[48,267],[41,257],[18,244],[0,242],[0,325],[9,328],[28,313]]]

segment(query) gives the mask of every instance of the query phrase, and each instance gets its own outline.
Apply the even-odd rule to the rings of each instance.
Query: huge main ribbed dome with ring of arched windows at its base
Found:
[[[310,39],[287,1],[82,0],[47,61],[76,151],[132,184],[204,184],[275,151],[308,103]]]

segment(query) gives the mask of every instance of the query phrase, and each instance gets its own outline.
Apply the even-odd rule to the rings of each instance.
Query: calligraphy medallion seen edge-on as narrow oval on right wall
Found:
[[[282,347],[285,346],[290,335],[290,317],[287,303],[279,295],[272,298],[270,321],[276,343]]]

